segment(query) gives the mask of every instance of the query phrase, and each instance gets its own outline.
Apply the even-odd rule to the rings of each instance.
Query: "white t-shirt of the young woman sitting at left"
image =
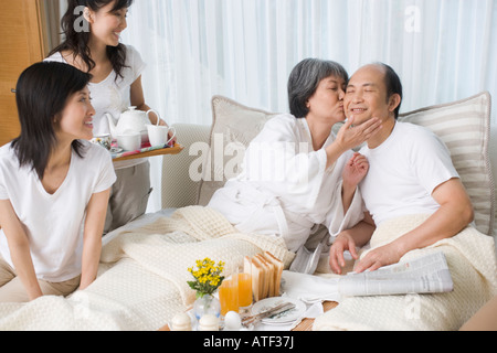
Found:
[[[67,175],[53,195],[45,191],[35,171],[20,167],[11,143],[0,148],[0,200],[11,202],[24,227],[39,279],[61,282],[81,275],[86,206],[93,194],[116,181],[108,151],[81,142],[84,158],[73,151]],[[0,254],[13,267],[3,229]]]

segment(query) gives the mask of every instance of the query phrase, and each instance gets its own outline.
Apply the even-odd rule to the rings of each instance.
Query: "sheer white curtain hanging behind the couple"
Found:
[[[482,90],[497,99],[494,0],[139,0],[123,42],[148,63],[146,100],[169,124],[210,125],[216,94],[288,111],[287,78],[305,57],[337,61],[349,74],[370,62],[391,65],[404,85],[402,111]],[[152,164],[158,190],[160,161]],[[160,192],[149,204],[156,210]]]

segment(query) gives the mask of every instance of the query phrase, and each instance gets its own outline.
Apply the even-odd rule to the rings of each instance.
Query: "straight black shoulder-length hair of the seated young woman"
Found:
[[[84,89],[92,76],[74,66],[42,62],[28,67],[15,87],[21,135],[11,143],[21,167],[31,167],[40,180],[56,145],[54,119],[64,110],[68,98]],[[83,145],[75,140],[74,151],[83,158]]]

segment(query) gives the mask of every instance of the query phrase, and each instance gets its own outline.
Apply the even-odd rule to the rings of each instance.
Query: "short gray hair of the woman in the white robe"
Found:
[[[340,64],[319,58],[305,58],[292,71],[288,78],[288,103],[290,114],[304,118],[309,114],[307,100],[316,93],[319,83],[335,76],[349,81],[347,71]]]

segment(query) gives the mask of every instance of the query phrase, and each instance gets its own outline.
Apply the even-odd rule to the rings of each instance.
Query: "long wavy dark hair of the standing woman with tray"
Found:
[[[112,1],[116,1],[112,11],[129,8],[134,2],[134,0],[67,0],[67,11],[61,20],[65,39],[49,56],[57,52],[70,51],[74,57],[80,56],[86,64],[87,71],[91,72],[95,67],[95,62],[88,49],[89,31],[84,30],[85,26],[89,29],[89,24],[82,15],[83,8],[86,7],[93,11],[98,11]],[[78,10],[78,7],[82,9]],[[84,21],[85,25],[77,25],[78,21]],[[121,71],[126,67],[126,46],[120,43],[117,46],[107,46],[107,57],[110,60],[117,74],[116,79],[117,77],[123,77]]]

